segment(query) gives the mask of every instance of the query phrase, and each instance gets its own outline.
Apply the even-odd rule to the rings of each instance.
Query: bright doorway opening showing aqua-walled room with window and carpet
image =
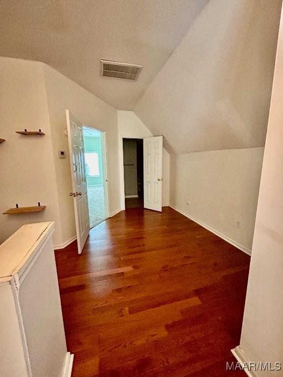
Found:
[[[83,126],[83,134],[89,225],[93,228],[108,217],[105,135],[86,126]]]

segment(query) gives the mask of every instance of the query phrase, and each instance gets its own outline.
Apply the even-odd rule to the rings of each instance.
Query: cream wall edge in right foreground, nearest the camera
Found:
[[[283,16],[283,12],[282,12]],[[283,368],[283,18],[255,220],[240,356]],[[283,372],[268,372],[282,376]],[[256,376],[265,377],[266,372]]]

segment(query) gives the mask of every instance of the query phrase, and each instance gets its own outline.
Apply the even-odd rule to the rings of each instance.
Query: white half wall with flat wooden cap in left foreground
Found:
[[[22,226],[0,245],[0,377],[70,377],[53,222]]]

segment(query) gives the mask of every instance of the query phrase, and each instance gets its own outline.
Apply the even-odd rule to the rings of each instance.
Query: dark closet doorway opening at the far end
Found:
[[[143,207],[143,139],[123,138],[125,209]]]

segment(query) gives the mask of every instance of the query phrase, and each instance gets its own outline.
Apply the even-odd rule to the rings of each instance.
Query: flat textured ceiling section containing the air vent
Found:
[[[208,1],[1,0],[0,55],[42,61],[130,110]],[[135,82],[101,78],[100,59],[144,68]]]

